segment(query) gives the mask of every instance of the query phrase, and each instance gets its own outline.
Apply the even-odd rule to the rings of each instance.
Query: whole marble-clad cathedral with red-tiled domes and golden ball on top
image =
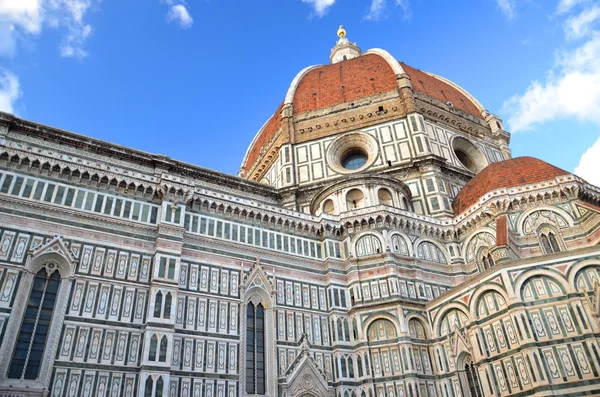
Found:
[[[600,395],[598,187],[342,27],[282,97],[239,176],[0,113],[0,397]]]

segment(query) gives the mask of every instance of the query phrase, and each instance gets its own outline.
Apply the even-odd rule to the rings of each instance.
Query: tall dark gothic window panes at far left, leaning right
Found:
[[[36,274],[8,370],[9,378],[37,379],[59,286],[58,271],[48,274],[43,268]]]

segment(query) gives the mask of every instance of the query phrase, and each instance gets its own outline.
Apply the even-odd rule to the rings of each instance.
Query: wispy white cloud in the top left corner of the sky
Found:
[[[99,0],[0,0],[0,55],[13,55],[17,43],[39,35],[43,26],[65,31],[60,54],[83,58],[92,27],[85,14]]]

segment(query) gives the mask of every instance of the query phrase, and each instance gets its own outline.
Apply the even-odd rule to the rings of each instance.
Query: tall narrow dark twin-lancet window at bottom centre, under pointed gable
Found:
[[[246,393],[265,394],[265,311],[262,304],[246,309]]]

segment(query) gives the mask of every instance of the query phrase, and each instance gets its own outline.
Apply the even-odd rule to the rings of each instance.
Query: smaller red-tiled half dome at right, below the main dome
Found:
[[[454,215],[459,215],[491,191],[530,185],[570,174],[534,157],[516,157],[492,163],[460,190],[452,204]]]

